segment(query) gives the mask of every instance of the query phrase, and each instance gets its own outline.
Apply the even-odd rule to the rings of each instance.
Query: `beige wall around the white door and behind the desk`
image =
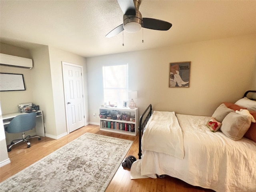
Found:
[[[26,50],[1,44],[1,53],[32,58],[33,60],[33,68],[31,70],[6,66],[0,67],[0,72],[23,74],[26,86],[25,91],[0,92],[2,114],[17,112],[18,104],[32,102],[39,105],[40,110],[44,111],[46,136],[57,139],[67,134],[62,61],[83,66],[85,114],[88,114],[86,58],[43,45]],[[86,122],[88,121],[89,118],[86,116]],[[34,130],[27,132],[27,134],[31,133],[34,133]],[[20,137],[20,134],[6,133],[6,140],[4,138],[0,139],[1,157],[6,156],[6,151],[2,150],[2,143],[10,143],[11,140]],[[4,147],[6,148],[6,145]],[[1,158],[0,162],[4,160]]]

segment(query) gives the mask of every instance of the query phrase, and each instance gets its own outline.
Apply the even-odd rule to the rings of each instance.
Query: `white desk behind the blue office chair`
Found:
[[[18,112],[18,113],[2,115],[4,126],[7,126],[14,117],[16,117],[18,115],[24,115],[24,114],[26,114],[26,113]],[[43,118],[42,110],[36,111],[36,128],[35,129],[36,129],[36,135],[45,137],[44,118]]]

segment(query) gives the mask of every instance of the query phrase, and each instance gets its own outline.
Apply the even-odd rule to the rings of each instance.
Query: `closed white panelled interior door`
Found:
[[[85,125],[82,66],[62,62],[68,132]]]

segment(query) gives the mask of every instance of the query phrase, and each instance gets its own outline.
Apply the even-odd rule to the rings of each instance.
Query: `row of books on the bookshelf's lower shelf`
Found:
[[[100,123],[102,128],[110,128],[115,130],[135,132],[135,124],[113,122],[113,121],[100,121]]]

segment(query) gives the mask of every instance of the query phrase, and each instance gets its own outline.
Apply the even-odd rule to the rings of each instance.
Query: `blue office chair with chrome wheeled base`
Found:
[[[33,129],[36,126],[36,113],[28,113],[28,114],[22,114],[14,117],[10,124],[5,128],[6,132],[8,133],[20,133],[22,132],[22,139],[15,139],[11,142],[10,146],[7,148],[7,151],[11,151],[12,146],[16,145],[19,142],[26,141],[28,146],[27,148],[30,148],[30,142],[28,139],[31,138],[38,138],[38,140],[41,140],[40,136],[33,136],[30,135],[25,137],[24,131],[28,131]],[[17,142],[14,142],[17,141]]]

